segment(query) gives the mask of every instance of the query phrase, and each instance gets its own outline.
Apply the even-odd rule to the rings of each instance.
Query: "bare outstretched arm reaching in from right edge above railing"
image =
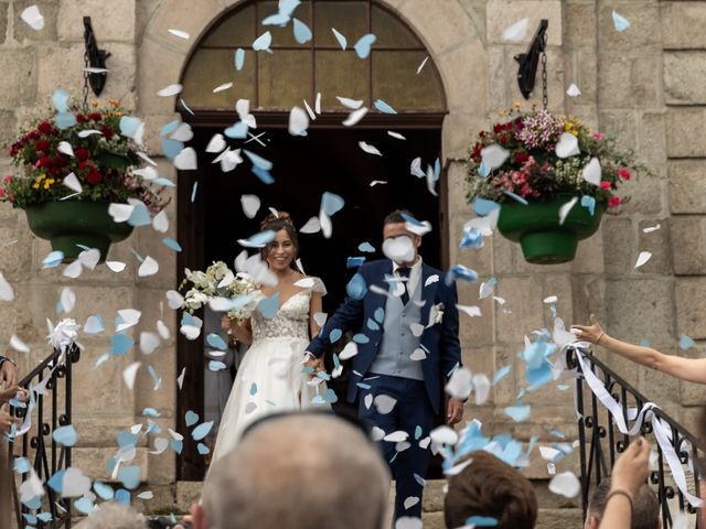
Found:
[[[706,358],[684,358],[675,355],[665,355],[652,347],[621,342],[609,336],[593,314],[590,315],[589,323],[590,325],[571,325],[571,330],[578,339],[600,345],[611,353],[681,380],[706,384]]]

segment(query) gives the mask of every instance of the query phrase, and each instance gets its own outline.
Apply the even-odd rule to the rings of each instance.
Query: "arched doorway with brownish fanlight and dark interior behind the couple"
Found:
[[[430,220],[436,229],[425,238],[424,257],[437,267],[448,264],[446,180],[440,177],[435,195],[426,179],[410,174],[413,160],[420,158],[425,170],[440,155],[446,97],[421,41],[377,1],[303,1],[293,12],[311,31],[311,40],[303,44],[292,35],[292,23],[285,28],[261,24],[277,12],[277,4],[253,0],[224,13],[200,39],[182,72],[184,89],[176,110],[193,127],[191,144],[200,163],[199,170],[179,174],[183,251],[178,270],[203,269],[213,260],[232,263],[242,250],[237,239],[257,231],[268,206],[288,210],[300,227],[318,214],[321,194],[333,192],[346,203],[333,217],[333,237],[301,237],[303,266],[308,273],[324,279],[330,292],[324,311],[331,312],[342,301],[353,273],[346,269],[346,258],[361,255],[359,245],[364,241],[379,249],[382,219],[392,209],[406,207]],[[345,51],[332,29],[346,35]],[[272,35],[272,53],[254,52],[253,42],[266,31]],[[352,47],[365,34],[375,34],[376,41],[370,55],[361,58]],[[235,66],[238,48],[245,51],[240,69]],[[226,83],[233,86],[214,91]],[[290,108],[303,107],[306,100],[315,112],[318,94],[321,111],[307,136],[290,136]],[[361,100],[371,110],[357,125],[344,127],[342,121],[351,110],[336,96]],[[228,144],[272,162],[274,184],[258,180],[247,160],[224,173],[220,164],[212,163],[216,155],[205,153],[213,134],[238,120],[237,99],[250,101],[258,127],[250,130],[250,137]],[[397,114],[377,110],[377,100]],[[360,142],[374,145],[382,156],[364,152]],[[374,181],[385,183],[371,186]],[[255,194],[261,201],[255,219],[242,212],[243,194]],[[366,256],[374,259],[381,253]],[[181,335],[179,339],[178,369],[185,367],[186,378],[179,393],[178,427],[185,431],[186,410],[203,417],[203,343],[188,342]],[[188,443],[178,477],[199,479],[202,475],[203,457]]]

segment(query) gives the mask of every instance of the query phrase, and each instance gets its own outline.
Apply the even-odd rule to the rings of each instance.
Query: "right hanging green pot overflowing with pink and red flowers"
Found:
[[[598,230],[606,207],[620,205],[614,192],[635,164],[576,117],[518,107],[478,134],[467,197],[479,215],[500,207],[498,230],[521,244],[528,262],[567,262]]]

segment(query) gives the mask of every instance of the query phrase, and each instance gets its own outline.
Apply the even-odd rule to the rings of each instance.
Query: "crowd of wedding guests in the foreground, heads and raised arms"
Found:
[[[640,364],[678,378],[706,381],[704,359],[672,357],[625,344],[608,336],[595,319],[576,328],[580,339]],[[14,364],[0,356],[0,406],[22,395]],[[0,409],[0,431],[8,433],[13,424],[18,420]],[[0,478],[8,483],[8,451],[7,446],[0,449]],[[633,439],[616,461],[611,476],[593,492],[585,529],[661,529],[657,498],[646,485],[649,460],[648,441]],[[466,463],[448,478],[447,527],[536,527],[537,498],[526,477],[484,451],[472,452]],[[268,415],[252,424],[239,444],[213,468],[201,501],[175,527],[383,529],[391,525],[389,481],[388,465],[364,423],[313,411]],[[11,527],[8,496],[0,494],[0,527]],[[77,527],[158,526],[127,506],[105,503]]]

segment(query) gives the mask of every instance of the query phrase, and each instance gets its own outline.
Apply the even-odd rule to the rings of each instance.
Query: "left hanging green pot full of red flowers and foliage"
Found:
[[[24,209],[30,229],[49,239],[66,262],[83,251],[81,246],[97,248],[103,261],[111,242],[132,233],[129,224],[114,222],[109,204],[132,199],[157,214],[167,201],[157,171],[138,170],[146,158],[138,143],[142,122],[126,116],[117,101],[88,109],[69,100],[56,90],[55,111],[8,145],[21,171],[0,182],[0,202]]]

